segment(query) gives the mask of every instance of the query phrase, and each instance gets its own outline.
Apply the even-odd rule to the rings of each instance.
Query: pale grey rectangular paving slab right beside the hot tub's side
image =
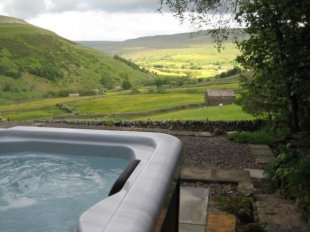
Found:
[[[208,189],[181,187],[179,222],[205,226],[208,199]]]

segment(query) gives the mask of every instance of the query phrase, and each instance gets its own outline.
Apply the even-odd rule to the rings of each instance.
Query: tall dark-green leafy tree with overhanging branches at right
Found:
[[[162,0],[182,20],[209,23],[209,14],[231,15],[249,38],[237,42],[237,61],[251,75],[242,81],[245,109],[281,116],[298,131],[310,118],[310,1]],[[229,20],[217,21],[215,39],[227,38]],[[223,32],[224,31],[224,32]]]

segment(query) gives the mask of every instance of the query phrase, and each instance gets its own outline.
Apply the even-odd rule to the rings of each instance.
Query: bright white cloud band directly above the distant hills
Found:
[[[56,32],[70,40],[125,40],[142,36],[192,31],[172,14],[126,12],[64,12],[42,14],[31,24]]]

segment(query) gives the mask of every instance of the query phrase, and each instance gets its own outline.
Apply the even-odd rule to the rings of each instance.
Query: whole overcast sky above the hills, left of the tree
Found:
[[[193,31],[160,0],[0,0],[0,14],[56,32],[70,40],[125,40]]]

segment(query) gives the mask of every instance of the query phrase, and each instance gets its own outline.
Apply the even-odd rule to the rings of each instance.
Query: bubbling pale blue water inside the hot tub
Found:
[[[0,231],[76,231],[108,196],[128,160],[98,155],[0,153]]]

